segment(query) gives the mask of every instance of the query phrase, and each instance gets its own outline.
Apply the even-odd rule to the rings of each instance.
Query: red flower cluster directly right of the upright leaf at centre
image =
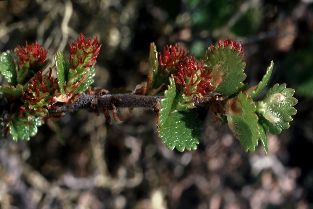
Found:
[[[162,57],[162,53],[159,52],[159,69],[160,73],[164,73],[164,70],[167,67],[177,67],[180,63],[185,64],[187,61],[187,56],[189,51],[185,54],[184,47],[179,48],[179,43],[176,43],[174,46],[166,45],[164,46],[164,55]]]

